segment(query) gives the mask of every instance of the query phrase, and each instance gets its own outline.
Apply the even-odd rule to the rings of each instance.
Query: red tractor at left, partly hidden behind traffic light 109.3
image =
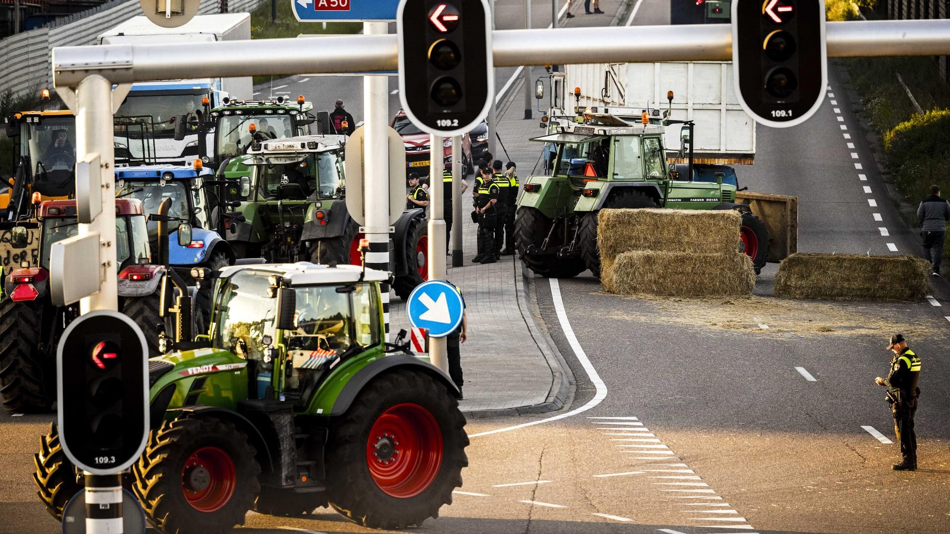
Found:
[[[39,193],[36,193],[39,195]],[[33,222],[10,229],[12,250],[29,251],[4,278],[0,300],[0,403],[15,412],[49,410],[56,400],[56,345],[79,303],[56,306],[49,292],[52,244],[77,236],[76,200],[47,200],[34,206]],[[158,289],[164,267],[149,264],[145,216],[139,200],[116,200],[116,256],[120,309],[145,331],[158,353]],[[31,247],[35,247],[30,250]],[[75,268],[93,268],[76,265]]]

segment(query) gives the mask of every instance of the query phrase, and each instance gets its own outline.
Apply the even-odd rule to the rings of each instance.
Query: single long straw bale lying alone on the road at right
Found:
[[[930,291],[930,264],[916,256],[793,254],[779,264],[775,296],[831,300],[917,300]]]

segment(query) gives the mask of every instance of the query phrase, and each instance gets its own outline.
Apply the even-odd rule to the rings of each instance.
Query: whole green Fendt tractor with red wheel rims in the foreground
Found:
[[[353,523],[404,528],[451,503],[468,464],[460,392],[384,341],[389,273],[301,262],[208,275],[206,347],[149,362],[152,429],[126,484],[152,524],[218,534],[249,509],[330,505]],[[35,482],[58,518],[82,489],[74,470],[51,428]]]

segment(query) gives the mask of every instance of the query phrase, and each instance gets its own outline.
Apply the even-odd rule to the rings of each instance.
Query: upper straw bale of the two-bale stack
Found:
[[[600,260],[635,250],[732,254],[739,250],[741,226],[735,210],[602,209]]]

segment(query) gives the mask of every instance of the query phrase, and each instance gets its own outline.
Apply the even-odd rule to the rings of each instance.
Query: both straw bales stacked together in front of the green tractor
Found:
[[[600,210],[600,283],[623,295],[750,295],[755,270],[737,252],[741,226],[734,210]]]

